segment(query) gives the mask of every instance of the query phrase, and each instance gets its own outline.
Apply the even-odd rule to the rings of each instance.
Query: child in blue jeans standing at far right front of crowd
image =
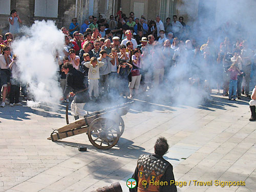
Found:
[[[238,87],[238,74],[242,74],[240,70],[238,69],[238,66],[236,63],[233,63],[230,68],[228,69],[230,72],[230,80],[229,80],[229,90],[228,90],[228,100],[231,100],[232,93],[233,93],[233,99],[236,100],[237,96],[237,87]]]

